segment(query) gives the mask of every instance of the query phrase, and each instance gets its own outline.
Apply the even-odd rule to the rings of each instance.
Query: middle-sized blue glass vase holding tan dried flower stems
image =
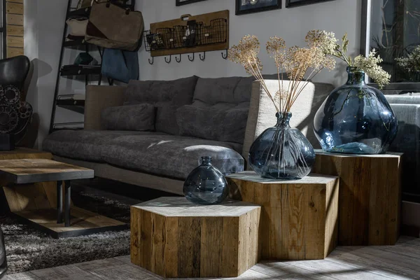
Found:
[[[295,180],[307,176],[315,162],[311,143],[289,125],[292,113],[276,113],[277,123],[255,139],[248,162],[263,178]]]

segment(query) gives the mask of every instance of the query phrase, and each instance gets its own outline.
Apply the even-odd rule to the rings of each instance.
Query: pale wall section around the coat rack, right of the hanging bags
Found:
[[[311,29],[324,29],[335,32],[337,38],[349,34],[349,52],[358,54],[360,49],[360,11],[361,0],[335,0],[296,8],[269,10],[249,15],[235,15],[235,0],[207,0],[185,6],[175,6],[175,0],[137,0],[137,10],[144,16],[145,28],[151,22],[160,22],[179,18],[183,14],[199,15],[217,10],[230,10],[230,45],[237,44],[242,36],[258,36],[262,48],[260,59],[264,64],[264,73],[275,73],[276,68],[265,52],[265,42],[270,36],[280,36],[287,45],[304,46],[304,36]],[[202,77],[246,76],[241,66],[221,57],[221,52],[207,52],[202,62],[196,54],[194,62],[183,55],[181,63],[167,64],[164,57],[155,57],[153,65],[148,64],[150,54],[142,47],[140,50],[140,79],[170,80],[184,76]],[[345,82],[345,71],[340,67],[336,71],[324,71],[314,80],[341,85]]]

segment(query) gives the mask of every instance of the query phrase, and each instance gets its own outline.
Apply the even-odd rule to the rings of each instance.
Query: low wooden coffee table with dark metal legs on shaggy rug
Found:
[[[55,238],[127,228],[120,221],[71,207],[71,181],[93,177],[92,169],[54,160],[0,160],[0,179],[7,183],[4,193],[9,207],[11,206],[10,211]],[[55,202],[51,195],[39,195],[40,189],[34,186],[34,183],[52,181],[57,182]],[[15,204],[20,204],[21,207],[15,207]],[[20,211],[13,211],[18,208]]]

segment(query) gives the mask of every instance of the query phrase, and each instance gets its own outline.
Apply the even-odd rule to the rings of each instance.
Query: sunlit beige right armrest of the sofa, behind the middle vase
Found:
[[[278,80],[265,80],[265,83],[270,92],[279,90]],[[290,83],[289,80],[283,80],[283,87],[287,88],[288,83]],[[334,90],[334,87],[328,83],[309,82],[293,104],[290,126],[299,129],[314,148],[319,147],[313,129],[315,113],[332,90]],[[260,83],[255,81],[252,84],[248,122],[246,123],[244,148],[242,150],[242,156],[246,160],[253,141],[264,130],[274,125],[276,125],[276,109]]]

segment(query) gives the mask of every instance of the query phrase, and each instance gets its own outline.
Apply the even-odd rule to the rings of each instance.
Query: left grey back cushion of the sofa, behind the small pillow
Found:
[[[162,110],[191,104],[197,78],[192,76],[178,80],[130,80],[125,90],[124,105],[154,104],[158,107],[156,131],[173,134],[177,130],[173,129],[173,123],[167,122],[169,113],[162,114]]]

